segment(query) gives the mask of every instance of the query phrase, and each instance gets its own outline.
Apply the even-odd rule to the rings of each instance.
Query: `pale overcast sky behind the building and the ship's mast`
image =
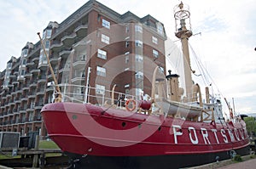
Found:
[[[87,0],[0,0],[0,71],[11,56],[20,57],[26,42],[38,42],[38,31],[49,21],[65,20]],[[98,0],[119,14],[130,10],[151,14],[165,25],[167,37],[176,41],[173,0]],[[194,34],[189,42],[199,51],[207,70],[236,112],[256,113],[256,3],[253,0],[184,0],[189,4]],[[224,105],[225,106],[225,105]]]

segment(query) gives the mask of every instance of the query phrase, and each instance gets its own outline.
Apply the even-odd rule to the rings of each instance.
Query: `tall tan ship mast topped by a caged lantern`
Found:
[[[191,69],[190,58],[189,58],[188,42],[189,42],[189,37],[192,36],[189,7],[184,6],[183,2],[178,4],[174,8],[174,18],[175,18],[175,27],[176,27],[175,36],[181,40],[182,48],[183,48],[183,66],[184,66],[184,76],[185,76],[185,84],[186,84],[186,96],[188,101],[191,101],[191,98],[192,98],[191,89],[193,85],[191,72],[195,73],[195,71]],[[189,25],[189,28],[186,27],[186,21]]]

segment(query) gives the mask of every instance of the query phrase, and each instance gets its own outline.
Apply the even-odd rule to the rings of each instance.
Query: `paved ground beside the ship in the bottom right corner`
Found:
[[[222,166],[222,167],[219,167],[218,169],[254,169],[254,168],[256,168],[256,159],[251,159],[248,161],[230,164],[229,166]]]

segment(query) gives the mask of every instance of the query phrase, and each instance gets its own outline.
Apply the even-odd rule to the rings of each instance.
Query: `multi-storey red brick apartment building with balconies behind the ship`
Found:
[[[58,83],[79,85],[61,91],[73,93],[84,93],[83,86],[89,84],[100,89],[90,93],[97,94],[115,84],[121,93],[150,95],[155,65],[166,72],[165,40],[164,25],[149,14],[143,18],[129,11],[118,14],[95,0],[61,24],[49,22],[43,31]],[[39,131],[45,136],[40,110],[53,101],[51,82],[40,42],[27,42],[20,57],[11,57],[0,72],[0,131],[21,135]]]

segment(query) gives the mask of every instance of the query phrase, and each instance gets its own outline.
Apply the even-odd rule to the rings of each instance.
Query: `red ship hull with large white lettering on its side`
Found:
[[[243,121],[229,124],[185,121],[75,103],[47,104],[42,115],[49,137],[63,151],[88,155],[87,159],[113,161],[124,157],[118,161],[126,159],[142,165],[145,159],[156,157],[164,161],[167,157],[172,160],[182,157],[184,160],[187,156],[187,162],[182,161],[192,166],[198,162],[194,164],[191,157],[199,158],[203,164],[215,161],[216,156],[220,160],[229,158],[231,150],[240,155],[248,153]],[[207,159],[201,161],[201,157]],[[138,159],[140,162],[135,162]]]

